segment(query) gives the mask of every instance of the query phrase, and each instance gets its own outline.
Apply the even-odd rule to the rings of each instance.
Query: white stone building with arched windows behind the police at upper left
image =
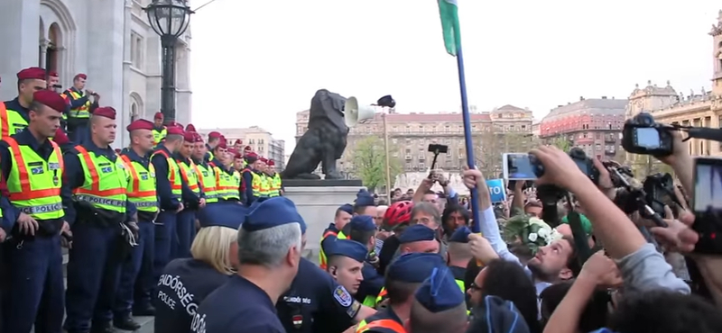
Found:
[[[24,67],[58,72],[60,84],[88,75],[88,88],[119,114],[118,128],[152,119],[161,108],[161,39],[143,7],[151,0],[3,0],[0,5],[0,87],[12,99],[15,73]],[[176,119],[190,121],[190,29],[176,50]],[[128,136],[119,130],[116,147]]]

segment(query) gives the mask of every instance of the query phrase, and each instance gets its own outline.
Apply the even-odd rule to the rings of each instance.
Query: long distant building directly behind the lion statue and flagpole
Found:
[[[532,111],[513,105],[504,105],[491,112],[476,112],[472,107],[471,129],[477,161],[496,166],[501,164],[505,151],[523,151],[532,141]],[[430,143],[449,146],[442,154],[437,167],[459,170],[467,164],[464,124],[460,112],[398,113],[388,112],[386,129],[389,136],[390,158],[395,158],[403,172],[424,171],[431,166],[433,154]],[[296,113],[296,141],[308,130],[309,111]],[[373,120],[359,123],[348,133],[346,151],[338,161],[339,171],[353,174],[353,151],[356,142],[367,137],[384,139],[384,121],[381,113]],[[498,153],[498,154],[497,154]],[[498,156],[497,156],[498,155]]]

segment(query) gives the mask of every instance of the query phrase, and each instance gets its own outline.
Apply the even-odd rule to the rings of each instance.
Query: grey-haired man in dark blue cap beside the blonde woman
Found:
[[[298,273],[306,224],[293,202],[256,202],[238,229],[238,273],[200,303],[196,333],[285,332],[275,303]]]

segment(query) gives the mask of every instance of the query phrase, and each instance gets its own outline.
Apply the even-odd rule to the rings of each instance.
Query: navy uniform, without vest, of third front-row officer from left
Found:
[[[125,149],[123,158],[143,166],[138,169],[139,176],[151,176],[150,155],[139,156],[133,149]],[[156,203],[157,204],[157,203]],[[116,292],[114,320],[136,316],[153,315],[151,292],[157,281],[153,281],[153,249],[155,247],[156,213],[138,211],[138,246],[133,247],[130,260],[125,260],[120,273],[120,283]]]

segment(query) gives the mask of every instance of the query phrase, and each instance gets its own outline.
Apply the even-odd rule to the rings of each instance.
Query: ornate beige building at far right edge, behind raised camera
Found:
[[[652,113],[655,121],[676,123],[680,125],[720,128],[722,124],[722,10],[719,11],[717,23],[709,31],[712,37],[713,61],[712,86],[704,86],[695,92],[685,95],[675,91],[669,82],[658,87],[651,82],[640,89],[639,86],[629,96],[626,117],[631,118],[639,112]],[[722,156],[722,144],[710,140],[690,139],[687,141],[690,153],[695,156]],[[629,160],[638,157],[627,154]]]

